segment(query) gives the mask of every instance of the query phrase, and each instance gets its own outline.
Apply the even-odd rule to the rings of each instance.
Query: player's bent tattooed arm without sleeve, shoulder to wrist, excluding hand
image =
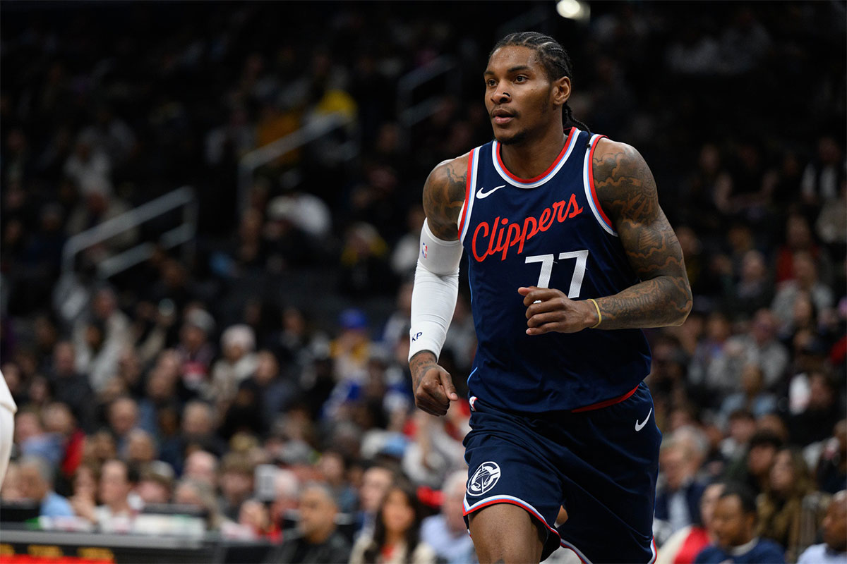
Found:
[[[691,310],[691,287],[650,168],[633,147],[606,139],[599,141],[592,165],[597,197],[641,279],[596,300],[602,314],[599,328],[682,325]]]

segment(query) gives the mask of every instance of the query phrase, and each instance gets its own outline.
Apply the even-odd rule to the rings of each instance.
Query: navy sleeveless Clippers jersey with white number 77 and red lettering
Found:
[[[522,413],[573,410],[623,397],[650,372],[639,329],[526,334],[518,287],[582,300],[639,282],[595,195],[600,138],[571,129],[556,161],[529,180],[507,171],[496,141],[471,151],[459,218],[479,341],[471,397]]]

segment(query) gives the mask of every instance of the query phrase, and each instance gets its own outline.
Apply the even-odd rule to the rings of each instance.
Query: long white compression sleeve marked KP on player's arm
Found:
[[[462,242],[435,237],[424,221],[412,290],[409,360],[421,351],[431,351],[436,358],[440,355],[456,309],[461,260]]]

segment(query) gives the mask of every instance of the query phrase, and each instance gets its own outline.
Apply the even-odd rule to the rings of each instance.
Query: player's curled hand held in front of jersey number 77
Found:
[[[597,323],[597,310],[588,300],[574,301],[552,287],[519,287],[518,293],[527,308],[527,335],[575,333]]]

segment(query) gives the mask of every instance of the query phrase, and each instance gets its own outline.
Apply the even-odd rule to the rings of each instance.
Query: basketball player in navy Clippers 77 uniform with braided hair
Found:
[[[483,563],[560,545],[584,562],[656,558],[661,434],[640,328],[681,324],[691,292],[650,169],[573,119],[570,75],[551,37],[498,42],[483,75],[495,140],[424,185],[412,383],[427,413],[458,399],[437,362],[465,249],[479,348],[464,512]]]

